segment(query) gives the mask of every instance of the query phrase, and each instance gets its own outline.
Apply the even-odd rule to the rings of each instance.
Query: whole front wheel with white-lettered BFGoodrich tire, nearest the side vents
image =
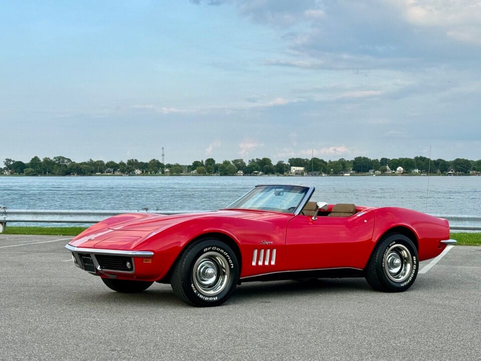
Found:
[[[239,264],[232,249],[217,239],[190,245],[174,266],[170,284],[184,302],[218,306],[232,294],[239,278]]]

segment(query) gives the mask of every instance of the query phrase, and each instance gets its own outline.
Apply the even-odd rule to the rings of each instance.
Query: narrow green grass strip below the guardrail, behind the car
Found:
[[[7,227],[4,234],[77,236],[85,227]],[[451,238],[460,246],[481,246],[481,233],[451,233]]]

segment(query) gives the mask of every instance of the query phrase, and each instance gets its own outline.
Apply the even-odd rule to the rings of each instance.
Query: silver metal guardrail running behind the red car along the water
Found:
[[[8,223],[70,223],[70,224],[94,224],[103,219],[123,213],[149,212],[148,209],[141,211],[119,210],[119,211],[72,211],[72,210],[8,210],[0,207],[0,233],[5,230]],[[180,213],[192,213],[204,211],[150,211],[162,215],[173,215]],[[433,215],[445,218],[449,221],[451,230],[454,231],[481,231],[481,216],[461,215]]]

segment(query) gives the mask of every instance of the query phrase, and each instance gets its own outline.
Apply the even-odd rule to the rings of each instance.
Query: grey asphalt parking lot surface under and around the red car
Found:
[[[404,293],[364,279],[255,282],[194,308],[169,285],[111,291],[61,238],[0,235],[2,361],[481,359],[481,247],[455,246]]]

